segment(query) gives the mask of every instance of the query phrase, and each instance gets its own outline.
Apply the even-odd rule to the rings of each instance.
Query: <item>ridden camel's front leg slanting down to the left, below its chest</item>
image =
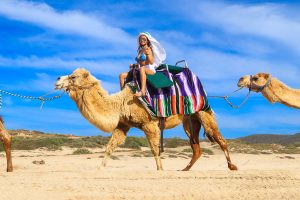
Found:
[[[107,160],[110,158],[111,154],[114,152],[118,145],[124,143],[126,139],[126,134],[129,131],[129,127],[118,126],[113,132],[112,136],[106,145],[105,155],[102,160],[101,169],[105,168],[107,165]]]

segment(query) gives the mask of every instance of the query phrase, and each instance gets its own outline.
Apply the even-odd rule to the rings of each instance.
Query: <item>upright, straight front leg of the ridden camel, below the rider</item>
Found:
[[[154,155],[157,170],[163,170],[161,159],[160,159],[160,129],[157,124],[147,123],[142,127],[146,134],[148,142],[150,144],[151,151]]]

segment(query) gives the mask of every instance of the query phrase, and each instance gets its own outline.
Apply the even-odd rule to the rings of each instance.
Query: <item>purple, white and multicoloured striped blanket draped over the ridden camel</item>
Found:
[[[140,88],[138,70],[134,70],[135,84]],[[171,81],[173,86],[154,88],[147,83],[147,91],[140,101],[153,117],[168,117],[171,115],[190,115],[200,110],[210,110],[206,93],[199,78],[188,68],[183,68],[179,73],[170,73],[160,70]]]

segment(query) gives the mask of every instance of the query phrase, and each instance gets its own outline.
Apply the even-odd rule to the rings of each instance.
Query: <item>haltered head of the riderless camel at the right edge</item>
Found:
[[[238,87],[247,87],[253,92],[261,92],[271,80],[271,75],[267,73],[258,73],[253,75],[246,75],[240,78],[237,83]]]

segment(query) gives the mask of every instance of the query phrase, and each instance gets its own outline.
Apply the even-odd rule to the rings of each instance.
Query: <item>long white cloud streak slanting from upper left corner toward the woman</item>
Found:
[[[93,15],[76,10],[60,12],[45,3],[2,0],[0,15],[61,33],[93,37],[106,42],[132,45],[135,41],[122,29],[106,24]]]

